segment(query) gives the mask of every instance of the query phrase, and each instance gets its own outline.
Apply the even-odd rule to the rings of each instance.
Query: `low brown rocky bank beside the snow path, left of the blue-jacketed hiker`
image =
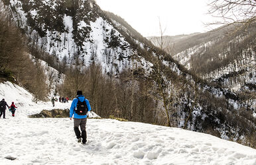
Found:
[[[29,117],[31,118],[45,118],[45,117],[52,117],[52,118],[60,118],[60,117],[69,117],[70,116],[70,110],[60,110],[60,109],[54,109],[54,110],[42,110],[40,114],[34,114]]]

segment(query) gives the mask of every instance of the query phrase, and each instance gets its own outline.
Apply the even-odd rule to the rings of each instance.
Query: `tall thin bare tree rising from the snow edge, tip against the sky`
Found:
[[[164,108],[164,114],[166,117],[166,124],[168,127],[170,127],[174,125],[174,119],[171,119],[170,117],[174,113],[172,110],[174,98],[176,97],[175,95],[178,94],[182,88],[184,88],[184,83],[180,83],[176,73],[170,71],[170,68],[162,63],[162,61],[165,58],[168,58],[170,54],[164,51],[164,49],[166,49],[164,47],[164,32],[162,31],[160,21],[159,28],[160,39],[157,40],[157,44],[159,45],[160,49],[158,49],[156,57],[152,57],[153,59],[151,59],[154,66],[151,76],[149,77],[149,86],[151,86],[153,90],[148,90],[147,92],[154,100],[162,102],[162,107]],[[166,45],[170,46],[170,44]],[[170,50],[172,50],[173,47],[170,47]]]

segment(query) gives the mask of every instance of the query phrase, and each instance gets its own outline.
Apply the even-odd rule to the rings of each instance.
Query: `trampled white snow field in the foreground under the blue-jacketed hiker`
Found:
[[[88,119],[85,146],[70,119],[17,117],[0,125],[0,164],[256,164],[255,149],[145,123]]]

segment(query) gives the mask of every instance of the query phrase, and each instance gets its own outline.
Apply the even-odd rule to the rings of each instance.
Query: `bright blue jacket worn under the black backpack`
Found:
[[[88,112],[91,110],[91,106],[90,106],[89,101],[86,98],[84,98],[83,95],[78,95],[78,98],[74,98],[74,100],[73,100],[73,102],[71,104],[71,107],[70,107],[70,117],[72,117],[73,114],[74,114],[74,118],[76,118],[76,119],[84,119],[84,118],[87,117],[87,115],[80,116],[80,115],[76,114],[76,112],[75,112],[76,105],[78,104],[78,99],[80,100],[80,102],[84,102],[84,100],[86,100],[86,105],[88,107]]]

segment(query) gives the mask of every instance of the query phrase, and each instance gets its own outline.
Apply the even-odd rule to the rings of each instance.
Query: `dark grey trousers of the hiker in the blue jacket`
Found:
[[[87,118],[84,118],[84,119],[76,119],[74,118],[74,131],[76,133],[76,138],[77,139],[80,139],[82,138],[82,142],[83,143],[86,143],[86,139],[87,139],[87,135],[86,135],[86,121],[87,121]],[[80,129],[82,131],[82,133],[80,132],[79,130],[79,126],[80,126]]]

